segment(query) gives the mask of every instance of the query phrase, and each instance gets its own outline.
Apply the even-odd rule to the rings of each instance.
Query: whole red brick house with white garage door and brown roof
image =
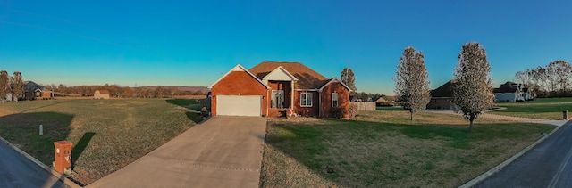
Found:
[[[334,107],[349,109],[348,86],[299,62],[262,62],[252,69],[239,64],[209,88],[213,116],[281,117],[290,109],[301,116],[332,117]]]

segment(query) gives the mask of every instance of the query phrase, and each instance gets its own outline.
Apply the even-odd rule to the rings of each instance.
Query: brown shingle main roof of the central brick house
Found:
[[[265,61],[248,71],[257,78],[262,79],[278,67],[286,69],[286,71],[290,72],[292,76],[298,78],[298,81],[294,86],[296,89],[318,89],[330,80],[299,62]]]

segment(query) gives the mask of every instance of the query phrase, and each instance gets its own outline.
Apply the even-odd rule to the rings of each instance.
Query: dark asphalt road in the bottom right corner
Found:
[[[475,187],[572,187],[572,122]]]

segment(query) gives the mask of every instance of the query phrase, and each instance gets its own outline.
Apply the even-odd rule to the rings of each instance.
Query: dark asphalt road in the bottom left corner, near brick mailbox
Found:
[[[46,169],[0,142],[0,187],[68,187]]]

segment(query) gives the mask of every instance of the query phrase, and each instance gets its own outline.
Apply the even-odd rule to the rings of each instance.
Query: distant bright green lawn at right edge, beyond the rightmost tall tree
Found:
[[[490,113],[531,119],[562,119],[562,110],[572,110],[572,98],[535,99],[529,102],[501,102],[497,103],[497,106],[507,109]]]

